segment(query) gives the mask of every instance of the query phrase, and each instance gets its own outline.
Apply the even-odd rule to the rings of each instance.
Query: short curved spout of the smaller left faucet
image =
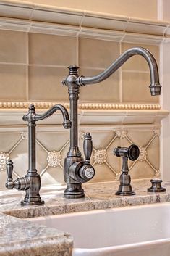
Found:
[[[60,104],[57,104],[57,105],[54,105],[53,107],[51,107],[49,110],[47,110],[45,113],[43,113],[42,115],[35,115],[35,121],[39,121],[39,120],[43,120],[47,117],[50,117],[51,115],[54,114],[54,112],[56,112],[56,110],[60,110],[62,115],[63,115],[63,119],[64,119],[64,122],[63,122],[63,126],[65,129],[69,129],[71,128],[71,121],[69,120],[69,113],[67,112],[67,109],[60,105]]]

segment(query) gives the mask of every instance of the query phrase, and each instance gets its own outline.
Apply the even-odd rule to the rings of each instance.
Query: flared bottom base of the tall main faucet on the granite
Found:
[[[85,191],[81,183],[69,183],[64,191],[64,198],[76,199],[85,197]]]

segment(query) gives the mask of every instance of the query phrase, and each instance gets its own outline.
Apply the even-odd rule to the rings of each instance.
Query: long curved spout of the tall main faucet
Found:
[[[87,84],[100,83],[106,78],[109,78],[111,74],[113,74],[119,67],[121,67],[124,62],[127,61],[130,57],[134,55],[143,56],[148,62],[148,66],[150,69],[150,93],[152,96],[161,94],[161,85],[159,83],[159,75],[158,75],[158,66],[156,64],[156,59],[153,57],[153,54],[150,53],[147,49],[143,47],[135,47],[124,51],[119,58],[117,58],[106,70],[98,75],[92,77],[83,77],[79,76],[75,83],[79,86],[85,86]]]

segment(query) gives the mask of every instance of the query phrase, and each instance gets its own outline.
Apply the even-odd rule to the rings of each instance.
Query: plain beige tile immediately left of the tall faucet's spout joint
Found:
[[[29,100],[68,102],[68,88],[61,84],[67,68],[29,67]]]

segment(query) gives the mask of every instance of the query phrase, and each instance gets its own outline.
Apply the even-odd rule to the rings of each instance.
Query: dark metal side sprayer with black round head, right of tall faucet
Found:
[[[129,160],[135,161],[140,155],[140,149],[136,145],[131,145],[129,148],[127,147],[116,147],[114,149],[114,155],[116,157],[122,157],[123,164],[122,164],[122,174],[119,178],[120,185],[119,189],[116,192],[116,195],[119,196],[132,196],[135,192],[132,190],[132,186],[130,185],[131,178],[129,176],[129,168],[127,165],[128,158]]]

